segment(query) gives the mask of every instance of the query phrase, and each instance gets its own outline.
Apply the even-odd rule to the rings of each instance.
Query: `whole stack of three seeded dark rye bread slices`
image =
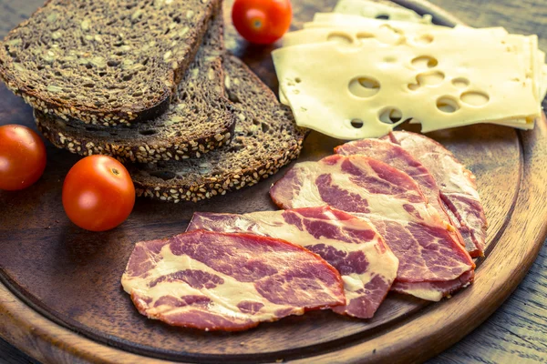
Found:
[[[5,37],[0,76],[55,146],[118,158],[139,196],[252,186],[306,135],[226,53],[221,0],[50,0]]]

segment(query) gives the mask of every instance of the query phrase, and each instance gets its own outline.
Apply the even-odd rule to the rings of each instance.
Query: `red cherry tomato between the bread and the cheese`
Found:
[[[291,26],[290,0],[235,0],[232,22],[251,43],[269,45],[281,38]]]

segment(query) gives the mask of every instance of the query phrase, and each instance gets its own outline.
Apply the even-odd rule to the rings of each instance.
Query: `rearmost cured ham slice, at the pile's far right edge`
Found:
[[[435,140],[396,131],[384,137],[415,156],[437,180],[440,197],[473,257],[484,255],[486,227],[475,176]]]

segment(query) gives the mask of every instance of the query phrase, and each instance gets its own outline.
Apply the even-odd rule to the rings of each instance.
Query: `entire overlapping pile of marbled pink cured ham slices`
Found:
[[[475,178],[426,136],[346,143],[296,164],[270,196],[282,210],[198,212],[186,233],[138,243],[121,282],[139,312],[206,330],[319,308],[370,319],[390,290],[449,297],[483,255]]]

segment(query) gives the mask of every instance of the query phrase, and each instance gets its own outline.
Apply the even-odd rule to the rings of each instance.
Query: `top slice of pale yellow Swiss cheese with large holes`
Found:
[[[419,120],[422,132],[516,118],[532,122],[541,109],[526,71],[530,62],[498,35],[481,34],[488,36],[491,42],[480,44],[476,34],[460,32],[388,47],[375,39],[326,42],[278,49],[273,56],[298,124],[330,136],[383,136],[408,118]]]

